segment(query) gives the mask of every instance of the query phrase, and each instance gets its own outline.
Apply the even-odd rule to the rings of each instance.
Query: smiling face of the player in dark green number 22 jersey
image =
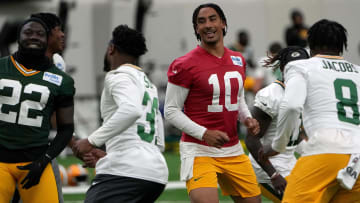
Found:
[[[30,21],[26,23],[20,31],[19,43],[26,49],[46,49],[47,35],[45,28],[38,22]]]

